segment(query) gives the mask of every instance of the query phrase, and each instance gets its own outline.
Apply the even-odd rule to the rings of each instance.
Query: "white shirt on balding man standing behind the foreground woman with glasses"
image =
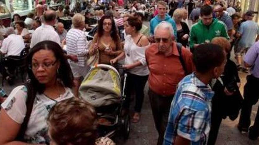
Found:
[[[34,33],[32,34],[31,38],[31,45],[30,47],[34,47],[37,43],[45,40],[54,41],[56,43],[60,44],[60,39],[58,33],[55,31],[53,26],[42,24],[40,27],[38,27]]]

